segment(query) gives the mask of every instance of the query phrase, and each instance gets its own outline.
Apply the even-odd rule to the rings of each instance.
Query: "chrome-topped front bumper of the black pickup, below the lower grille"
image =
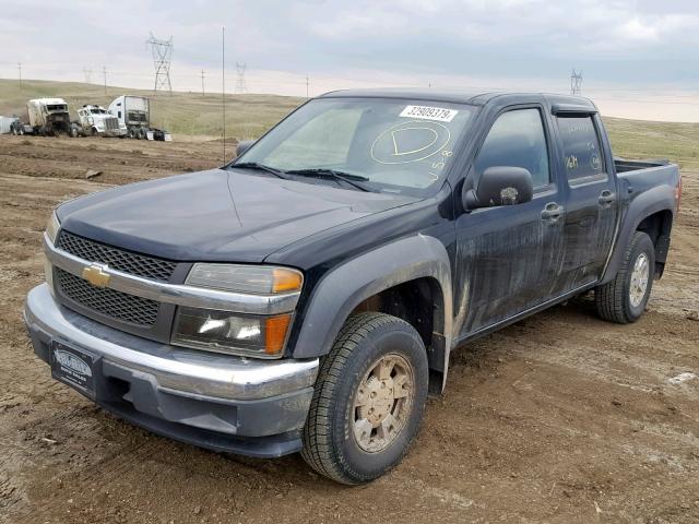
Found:
[[[135,425],[251,456],[301,448],[318,359],[262,361],[147,341],[58,305],[46,284],[29,291],[24,318],[44,361],[55,342],[96,355],[95,402]]]

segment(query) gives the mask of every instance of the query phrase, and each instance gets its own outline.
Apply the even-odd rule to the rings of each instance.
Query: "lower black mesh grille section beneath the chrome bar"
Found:
[[[87,281],[56,267],[61,294],[112,319],[140,326],[152,326],[157,320],[158,302],[106,287],[95,287]]]

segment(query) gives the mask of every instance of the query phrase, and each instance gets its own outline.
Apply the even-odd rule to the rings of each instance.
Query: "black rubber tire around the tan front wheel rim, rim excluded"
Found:
[[[404,424],[387,446],[367,452],[354,433],[355,395],[377,360],[402,357],[412,371],[413,392]],[[427,353],[415,329],[384,313],[351,317],[330,354],[322,360],[308,420],[304,427],[304,460],[318,473],[342,484],[363,484],[396,465],[410,448],[427,398]]]

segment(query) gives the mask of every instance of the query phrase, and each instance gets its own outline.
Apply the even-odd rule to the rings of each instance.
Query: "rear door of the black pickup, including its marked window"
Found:
[[[614,240],[618,198],[599,118],[596,114],[554,117],[568,183],[564,273],[569,290],[600,278]]]

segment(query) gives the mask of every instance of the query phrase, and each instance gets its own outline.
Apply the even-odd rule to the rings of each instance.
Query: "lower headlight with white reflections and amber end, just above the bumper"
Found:
[[[286,344],[291,321],[292,313],[250,317],[180,307],[171,343],[209,352],[277,358]]]

